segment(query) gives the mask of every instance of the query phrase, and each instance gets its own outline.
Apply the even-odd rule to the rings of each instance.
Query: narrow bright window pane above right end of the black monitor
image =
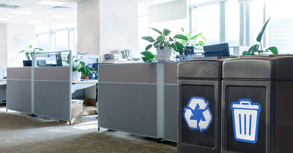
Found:
[[[239,46],[239,3],[238,0],[227,1],[227,42],[229,46]]]

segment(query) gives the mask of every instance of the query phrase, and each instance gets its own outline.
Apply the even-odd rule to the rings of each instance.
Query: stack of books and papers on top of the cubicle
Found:
[[[127,61],[130,59],[132,59],[132,54],[128,49],[123,51],[115,50],[105,54],[105,61]]]

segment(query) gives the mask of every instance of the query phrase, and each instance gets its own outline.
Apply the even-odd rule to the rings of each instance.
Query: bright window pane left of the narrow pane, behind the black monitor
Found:
[[[219,3],[191,8],[191,30],[203,32],[206,45],[220,43]]]

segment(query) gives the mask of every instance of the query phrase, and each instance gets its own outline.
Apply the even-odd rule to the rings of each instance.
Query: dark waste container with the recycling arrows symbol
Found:
[[[178,63],[178,153],[219,152],[222,63],[226,59],[230,57]]]

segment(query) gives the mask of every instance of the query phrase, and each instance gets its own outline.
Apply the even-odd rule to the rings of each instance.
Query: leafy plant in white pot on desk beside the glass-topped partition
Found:
[[[69,56],[69,54],[67,55],[67,60],[63,60],[63,59],[59,59],[59,60],[66,62],[67,65],[69,66],[70,56]],[[95,72],[95,73],[97,72],[92,67],[86,67],[86,63],[83,61],[80,61],[80,60],[82,60],[82,59],[75,60],[72,63],[71,80],[73,80],[73,81],[80,81],[81,76],[88,75],[89,71]]]

